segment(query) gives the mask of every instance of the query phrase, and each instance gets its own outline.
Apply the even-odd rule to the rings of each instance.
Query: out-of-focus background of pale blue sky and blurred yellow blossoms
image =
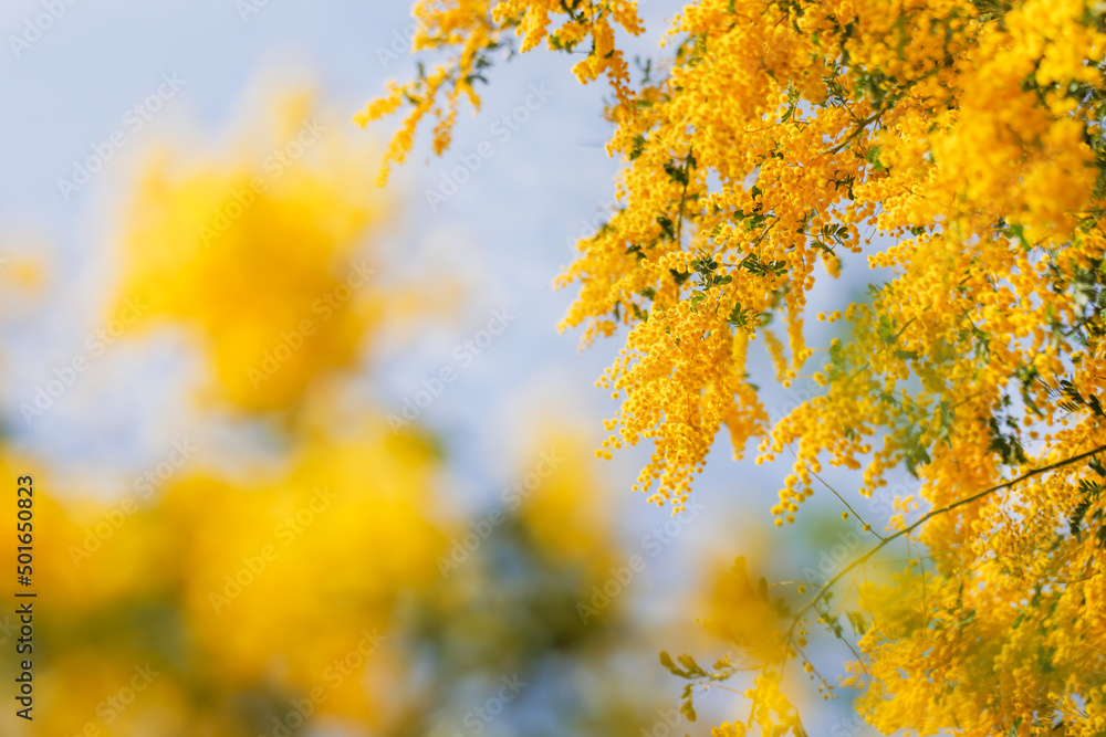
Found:
[[[640,6],[654,54],[678,3]],[[38,592],[34,719],[6,695],[0,734],[662,737],[748,709],[735,678],[687,722],[658,652],[713,662],[737,556],[824,580],[856,524],[825,501],[774,531],[790,464],[727,438],[675,518],[629,492],[648,449],[595,459],[620,340],[578,351],[551,284],[613,197],[602,86],[499,65],[380,189],[393,131],[352,117],[413,73],[405,0],[8,0],[0,31],[0,477],[35,480]],[[773,419],[813,396],[760,361]],[[811,734],[866,734],[808,691]]]

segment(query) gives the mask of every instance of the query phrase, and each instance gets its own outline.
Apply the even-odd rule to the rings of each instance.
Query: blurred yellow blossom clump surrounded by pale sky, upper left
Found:
[[[386,308],[410,307],[363,249],[390,207],[366,173],[375,149],[306,94],[275,107],[229,155],[167,147],[146,160],[122,235],[119,303],[190,329],[215,393],[247,411],[294,406],[356,364]]]

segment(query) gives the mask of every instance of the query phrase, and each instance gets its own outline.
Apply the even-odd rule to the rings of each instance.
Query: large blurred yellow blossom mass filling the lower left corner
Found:
[[[404,672],[406,652],[389,646],[397,602],[439,578],[445,536],[428,519],[436,457],[376,421],[342,441],[304,441],[282,473],[182,478],[156,506],[59,506],[40,495],[49,535],[38,538],[35,571],[50,604],[38,621],[51,652],[39,662],[50,686],[34,734],[86,724],[138,734],[152,714],[176,715],[165,724],[189,724],[185,734],[271,728],[236,712],[251,693],[274,699],[279,718],[307,704],[386,726],[401,701],[366,683]],[[125,695],[140,708],[105,701],[147,665],[158,674],[148,693]]]

